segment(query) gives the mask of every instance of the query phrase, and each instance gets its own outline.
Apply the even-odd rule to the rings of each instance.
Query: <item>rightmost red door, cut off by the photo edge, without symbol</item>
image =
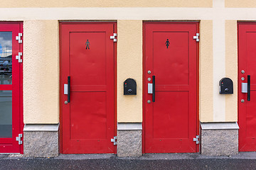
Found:
[[[238,23],[239,151],[256,151],[256,24]],[[250,77],[248,81],[248,77]],[[242,93],[243,87],[249,93]],[[247,83],[247,84],[246,84]],[[246,92],[246,91],[243,91]],[[243,101],[242,101],[243,100]]]

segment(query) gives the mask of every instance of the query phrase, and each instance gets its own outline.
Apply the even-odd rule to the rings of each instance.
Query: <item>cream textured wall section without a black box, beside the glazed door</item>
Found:
[[[58,123],[58,21],[23,23],[24,123]]]

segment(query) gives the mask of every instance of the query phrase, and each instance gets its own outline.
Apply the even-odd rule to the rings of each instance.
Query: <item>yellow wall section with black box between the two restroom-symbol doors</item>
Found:
[[[136,96],[124,96],[128,78],[137,82]],[[117,21],[117,122],[142,122],[142,21]]]

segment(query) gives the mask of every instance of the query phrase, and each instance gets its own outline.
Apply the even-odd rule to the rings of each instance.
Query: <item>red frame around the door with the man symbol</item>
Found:
[[[62,70],[62,65],[61,65],[61,27],[63,24],[91,24],[91,23],[95,23],[95,24],[105,24],[105,23],[112,23],[114,24],[114,33],[117,33],[117,22],[97,22],[97,21],[93,21],[93,22],[60,22],[59,23],[59,28],[60,28],[60,32],[59,32],[59,49],[60,49],[60,101],[62,101],[62,94],[63,94],[63,86],[61,86],[61,70]],[[60,131],[59,131],[59,152],[60,154],[63,154],[63,116],[62,116],[62,107],[60,104]],[[114,42],[114,135],[117,135],[117,43]],[[114,154],[117,154],[117,146],[114,147]]]

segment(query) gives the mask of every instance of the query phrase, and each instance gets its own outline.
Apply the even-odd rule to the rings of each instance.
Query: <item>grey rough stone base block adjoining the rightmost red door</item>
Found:
[[[238,154],[238,129],[201,130],[201,154]]]

